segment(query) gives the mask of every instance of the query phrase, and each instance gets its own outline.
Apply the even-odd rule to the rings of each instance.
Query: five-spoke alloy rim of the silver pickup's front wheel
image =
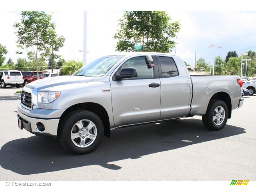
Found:
[[[92,121],[84,119],[73,126],[70,136],[76,146],[88,147],[97,137],[97,127]]]

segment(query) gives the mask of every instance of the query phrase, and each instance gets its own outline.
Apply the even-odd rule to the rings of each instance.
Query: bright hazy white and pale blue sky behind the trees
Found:
[[[47,11],[52,15],[52,22],[56,23],[56,31],[63,35],[66,42],[59,54],[66,60],[83,60],[83,11]],[[228,51],[237,53],[248,50],[256,51],[256,12],[216,12],[216,11],[168,11],[172,20],[179,20],[181,30],[175,41],[176,54],[191,66],[195,66],[195,51],[197,59],[205,58],[209,63],[214,61],[214,50],[208,48],[210,44],[222,45],[216,49],[216,56],[225,59]],[[118,19],[121,11],[88,11],[87,32],[87,61],[99,56],[111,54],[115,51],[116,41],[113,35],[118,29]],[[16,35],[14,23],[20,22],[20,12],[0,12],[1,30],[0,44],[8,49],[6,58],[15,61],[18,50],[16,47]],[[175,52],[175,50],[173,50]],[[6,59],[6,62],[7,62]]]

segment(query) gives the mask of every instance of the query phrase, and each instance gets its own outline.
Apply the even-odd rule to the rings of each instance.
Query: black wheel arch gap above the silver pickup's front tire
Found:
[[[65,116],[68,113],[70,113],[74,110],[78,110],[78,109],[88,110],[88,111],[91,111],[91,112],[97,114],[101,118],[103,125],[104,125],[104,136],[110,138],[110,121],[109,121],[108,112],[102,105],[100,105],[98,103],[78,103],[78,104],[72,105],[68,109],[66,109],[66,111],[60,117],[57,136],[59,135],[60,126],[61,126],[61,122],[63,122],[62,121],[63,118],[65,118]]]

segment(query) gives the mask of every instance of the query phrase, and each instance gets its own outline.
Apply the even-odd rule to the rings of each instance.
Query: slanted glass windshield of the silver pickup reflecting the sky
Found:
[[[74,76],[102,77],[124,56],[105,56],[100,57],[87,65],[83,66]]]

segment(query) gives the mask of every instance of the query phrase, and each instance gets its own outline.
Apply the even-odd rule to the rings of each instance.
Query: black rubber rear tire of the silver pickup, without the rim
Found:
[[[225,118],[220,120],[222,123],[220,125],[217,125],[216,122],[214,121],[214,115],[216,114],[215,109],[218,107],[222,107],[224,110]],[[228,121],[228,106],[224,101],[221,100],[211,100],[209,102],[206,114],[202,116],[202,121],[204,123],[204,126],[208,128],[211,131],[219,131],[225,127],[227,121]]]

